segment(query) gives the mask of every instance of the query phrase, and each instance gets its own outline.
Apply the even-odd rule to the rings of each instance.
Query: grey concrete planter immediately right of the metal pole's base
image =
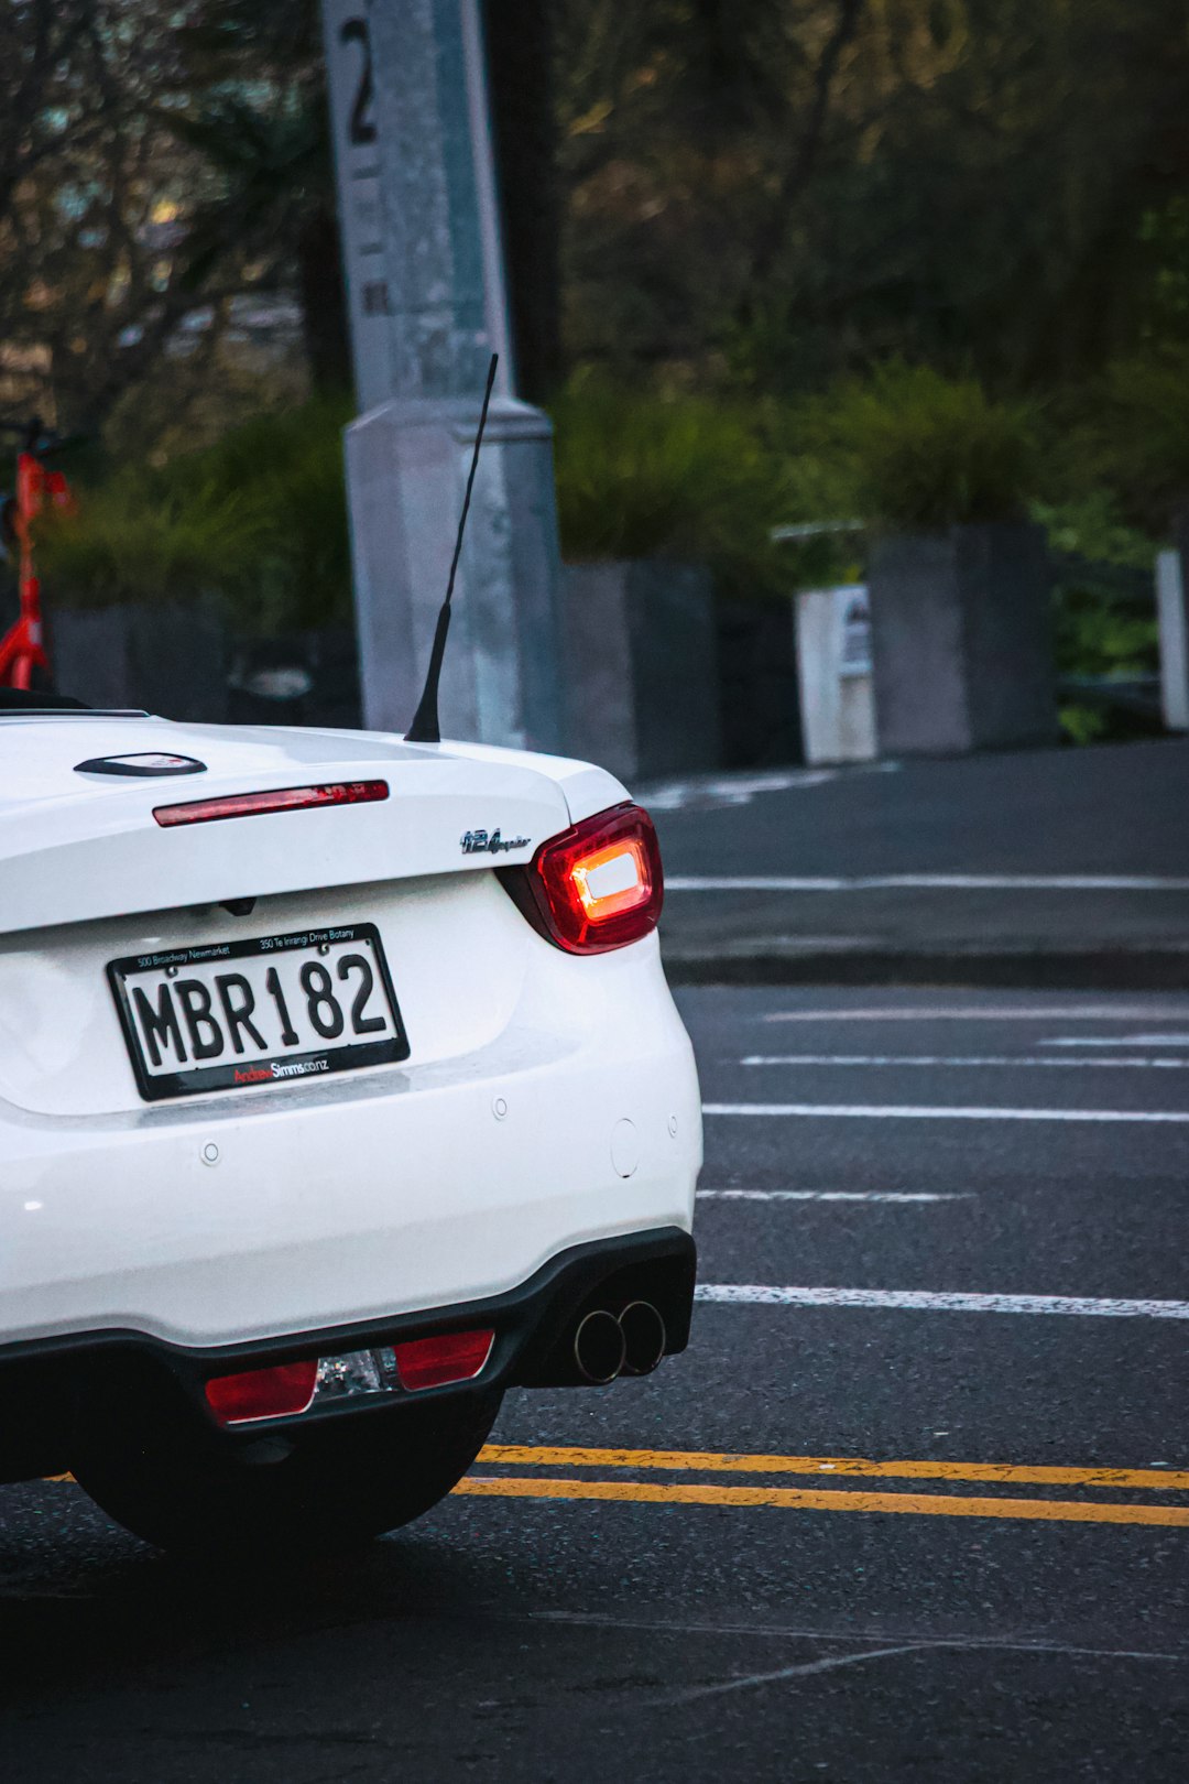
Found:
[[[569,749],[620,780],[722,764],[709,571],[638,558],[562,569]]]

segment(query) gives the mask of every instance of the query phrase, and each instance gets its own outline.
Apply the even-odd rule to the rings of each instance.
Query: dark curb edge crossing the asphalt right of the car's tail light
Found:
[[[665,949],[670,985],[966,985],[989,990],[1184,992],[1189,944],[1013,949]]]

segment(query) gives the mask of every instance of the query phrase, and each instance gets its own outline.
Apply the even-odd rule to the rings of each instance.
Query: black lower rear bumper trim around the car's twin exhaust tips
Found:
[[[262,1438],[301,1441],[339,1420],[399,1418],[424,1400],[499,1393],[508,1386],[576,1381],[572,1336],[592,1308],[649,1301],[665,1320],[665,1352],[690,1334],[695,1247],[688,1233],[663,1227],[576,1245],[503,1295],[447,1308],[389,1315],[353,1326],[301,1331],[250,1345],[189,1349],[132,1331],[77,1333],[0,1349],[0,1481],[66,1470],[118,1425],[128,1441],[139,1431],[180,1429],[223,1447],[248,1449]],[[415,1393],[316,1402],[289,1418],[221,1429],[205,1383],[239,1368],[298,1358],[333,1358],[451,1329],[492,1327],[496,1342],[480,1375]]]

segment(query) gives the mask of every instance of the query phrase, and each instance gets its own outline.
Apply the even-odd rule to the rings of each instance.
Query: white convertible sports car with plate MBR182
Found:
[[[652,824],[583,762],[0,690],[0,1481],[166,1547],[426,1511],[686,1343]]]

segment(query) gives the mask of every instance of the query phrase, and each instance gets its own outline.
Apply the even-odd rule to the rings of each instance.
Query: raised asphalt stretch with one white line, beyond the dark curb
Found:
[[[1187,794],[1177,739],[645,789],[665,958],[688,983],[1189,988]]]

